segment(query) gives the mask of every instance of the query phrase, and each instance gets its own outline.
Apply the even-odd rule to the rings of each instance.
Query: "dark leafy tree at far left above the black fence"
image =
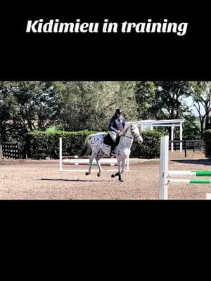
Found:
[[[0,129],[4,141],[22,141],[28,131],[46,129],[54,112],[51,82],[1,82]]]

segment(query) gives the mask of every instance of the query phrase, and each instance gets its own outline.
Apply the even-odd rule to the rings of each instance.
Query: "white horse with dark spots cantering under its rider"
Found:
[[[102,169],[99,160],[103,157],[103,155],[110,155],[110,145],[104,143],[106,136],[107,133],[96,133],[87,136],[85,139],[84,147],[82,148],[82,152],[79,156],[82,157],[86,155],[91,149],[91,156],[89,157],[89,171],[86,172],[86,175],[91,174],[92,162],[96,159],[99,169],[97,175],[101,176]],[[112,178],[118,176],[119,181],[123,181],[122,173],[124,172],[124,164],[127,157],[130,155],[130,150],[134,140],[139,144],[143,142],[143,138],[139,133],[139,127],[132,124],[122,131],[120,141],[115,147],[115,157],[117,158],[118,171],[116,174],[111,175]]]

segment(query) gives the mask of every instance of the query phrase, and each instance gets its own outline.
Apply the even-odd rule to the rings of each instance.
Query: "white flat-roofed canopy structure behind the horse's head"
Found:
[[[182,152],[182,124],[185,122],[184,119],[170,119],[170,120],[141,120],[141,121],[132,121],[126,122],[126,126],[131,124],[137,124],[141,131],[153,127],[171,127],[171,141],[174,141],[174,128],[179,127],[179,140],[180,140],[180,152]],[[171,143],[171,150],[173,152],[174,143]]]

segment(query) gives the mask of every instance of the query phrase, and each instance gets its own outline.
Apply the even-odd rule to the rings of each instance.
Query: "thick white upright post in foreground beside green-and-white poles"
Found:
[[[168,171],[169,171],[169,136],[162,136],[160,141],[160,171],[158,198],[168,199]]]

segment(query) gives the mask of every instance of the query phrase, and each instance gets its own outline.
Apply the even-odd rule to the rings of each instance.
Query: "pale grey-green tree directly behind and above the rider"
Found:
[[[108,129],[109,119],[117,107],[129,120],[137,118],[134,82],[71,81],[54,84],[60,100],[60,117],[65,129]]]

